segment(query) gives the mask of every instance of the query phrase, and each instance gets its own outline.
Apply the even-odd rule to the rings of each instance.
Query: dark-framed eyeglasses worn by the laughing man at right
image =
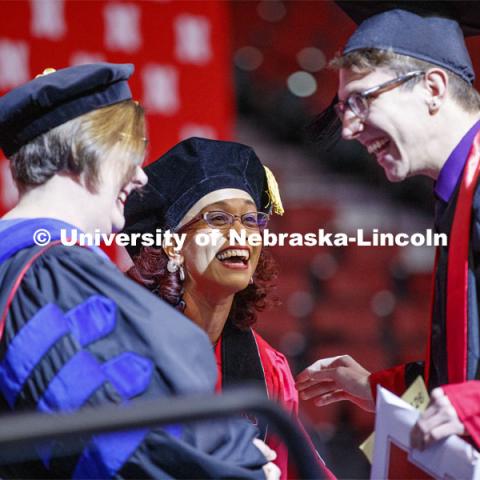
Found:
[[[371,98],[377,97],[381,93],[397,88],[409,80],[412,80],[412,78],[416,78],[424,73],[425,72],[422,70],[415,70],[413,72],[408,72],[404,75],[395,77],[392,80],[388,80],[375,87],[370,87],[363,92],[353,92],[345,100],[340,100],[335,104],[335,112],[340,120],[343,120],[343,116],[345,115],[347,109],[351,110],[360,120],[365,120],[370,111],[369,100]]]

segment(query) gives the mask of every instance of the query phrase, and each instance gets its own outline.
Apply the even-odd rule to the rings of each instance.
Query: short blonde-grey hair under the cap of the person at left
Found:
[[[33,139],[10,157],[13,178],[24,191],[57,173],[71,173],[83,175],[96,191],[100,165],[116,148],[119,168],[129,177],[146,150],[145,113],[133,100],[93,110]]]

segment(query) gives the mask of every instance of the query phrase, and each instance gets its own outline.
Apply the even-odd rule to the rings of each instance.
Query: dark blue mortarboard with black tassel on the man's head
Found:
[[[445,68],[468,83],[475,74],[464,35],[480,34],[480,8],[462,1],[337,1],[359,27],[342,54],[362,49],[392,50]],[[332,143],[341,124],[334,104],[314,120],[311,131]]]

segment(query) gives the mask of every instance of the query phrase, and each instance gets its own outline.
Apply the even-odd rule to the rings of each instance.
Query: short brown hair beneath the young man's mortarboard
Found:
[[[400,55],[393,50],[381,50],[376,48],[360,49],[346,55],[337,55],[331,62],[330,67],[334,69],[349,68],[354,71],[371,71],[375,68],[388,68],[392,72],[402,75],[412,70],[427,71],[430,68],[442,68],[417,58],[407,55]],[[469,113],[480,111],[480,94],[455,73],[445,69],[448,75],[448,91],[451,98],[460,105],[463,110]],[[403,88],[413,88],[417,77],[404,84]]]

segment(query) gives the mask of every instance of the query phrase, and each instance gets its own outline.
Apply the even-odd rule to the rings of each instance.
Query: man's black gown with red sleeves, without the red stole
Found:
[[[472,129],[472,134],[478,131],[480,131],[479,124]],[[437,250],[429,345],[430,361],[426,381],[429,391],[442,386],[459,419],[465,425],[466,431],[480,448],[480,382],[477,381],[480,378],[480,188],[478,183],[472,199],[470,231],[465,233],[465,235],[469,235],[464,372],[466,381],[452,383],[449,379],[449,365],[451,366],[452,362],[458,363],[453,359],[453,352],[448,348],[446,305],[448,259],[450,257],[455,260],[455,256],[458,254],[456,251],[450,251],[455,248],[451,247],[450,240],[460,195],[460,181],[448,201],[437,198],[435,205],[435,228],[439,233],[448,234],[449,246],[440,246]],[[457,319],[455,321],[457,323]],[[461,322],[458,321],[458,329],[462,328]],[[370,376],[370,385],[374,398],[377,385],[380,384],[397,395],[401,395],[418,375],[425,376],[425,362],[399,365],[373,373]]]

